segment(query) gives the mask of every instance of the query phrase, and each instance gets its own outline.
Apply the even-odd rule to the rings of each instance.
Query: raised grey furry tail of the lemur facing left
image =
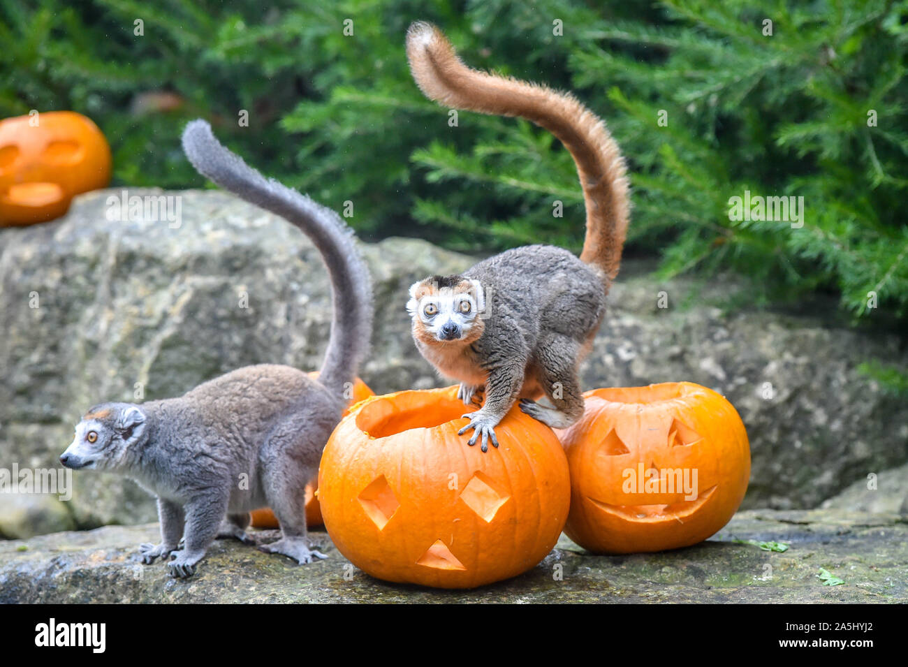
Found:
[[[319,379],[340,394],[359,372],[372,334],[372,283],[353,232],[331,209],[256,172],[224,148],[211,125],[202,120],[186,125],[183,152],[196,171],[241,199],[292,222],[321,252],[331,278],[334,313]]]

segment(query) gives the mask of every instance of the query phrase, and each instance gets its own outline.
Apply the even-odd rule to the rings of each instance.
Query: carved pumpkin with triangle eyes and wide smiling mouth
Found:
[[[565,533],[588,551],[675,549],[714,535],[750,477],[735,407],[691,382],[595,389],[558,431],[571,474]]]

